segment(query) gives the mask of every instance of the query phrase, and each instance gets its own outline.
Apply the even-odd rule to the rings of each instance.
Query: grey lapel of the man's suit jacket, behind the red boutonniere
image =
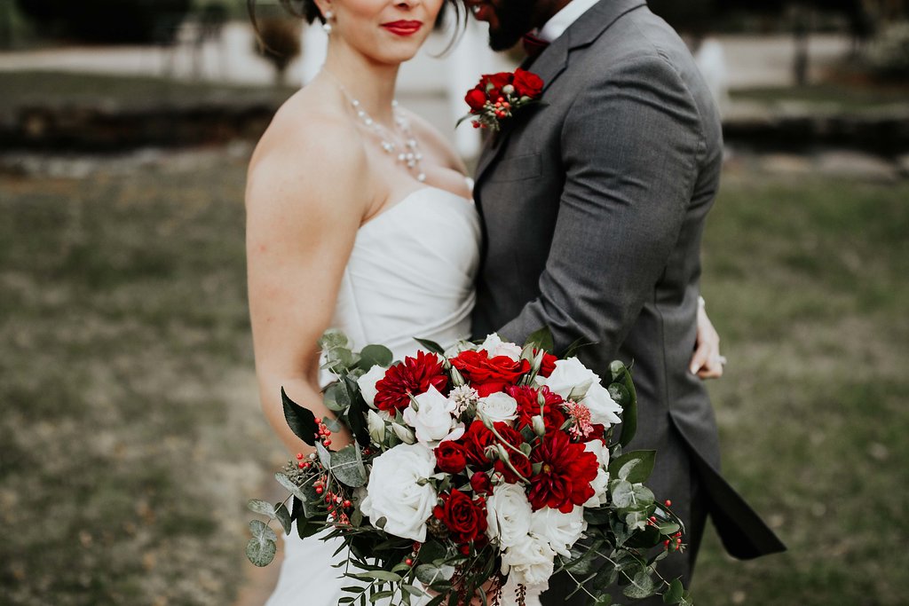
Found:
[[[645,0],[600,0],[584,15],[574,22],[555,42],[546,47],[535,61],[524,61],[522,68],[527,69],[543,79],[543,101],[546,90],[562,75],[568,66],[568,55],[575,48],[590,45],[606,31],[620,16],[646,5]],[[475,182],[479,183],[502,153],[513,129],[507,125],[499,133],[486,139],[483,152],[476,165]]]

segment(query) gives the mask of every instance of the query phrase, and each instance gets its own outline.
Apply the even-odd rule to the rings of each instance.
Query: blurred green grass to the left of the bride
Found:
[[[252,376],[243,180],[236,161],[0,179],[5,603],[233,599],[245,499],[275,447]]]

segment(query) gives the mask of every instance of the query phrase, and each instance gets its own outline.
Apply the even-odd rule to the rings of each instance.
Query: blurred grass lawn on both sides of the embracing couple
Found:
[[[4,603],[234,600],[245,500],[281,456],[252,375],[244,164],[0,175]],[[724,462],[791,551],[729,561],[711,533],[699,603],[904,603],[907,200],[726,175],[704,275]]]

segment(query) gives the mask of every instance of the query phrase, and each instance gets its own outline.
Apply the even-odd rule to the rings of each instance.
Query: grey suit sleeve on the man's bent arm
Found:
[[[540,295],[500,329],[516,343],[544,325],[557,350],[598,343],[614,359],[654,298],[704,154],[701,116],[662,56],[608,70],[578,94],[561,137],[565,184]]]

